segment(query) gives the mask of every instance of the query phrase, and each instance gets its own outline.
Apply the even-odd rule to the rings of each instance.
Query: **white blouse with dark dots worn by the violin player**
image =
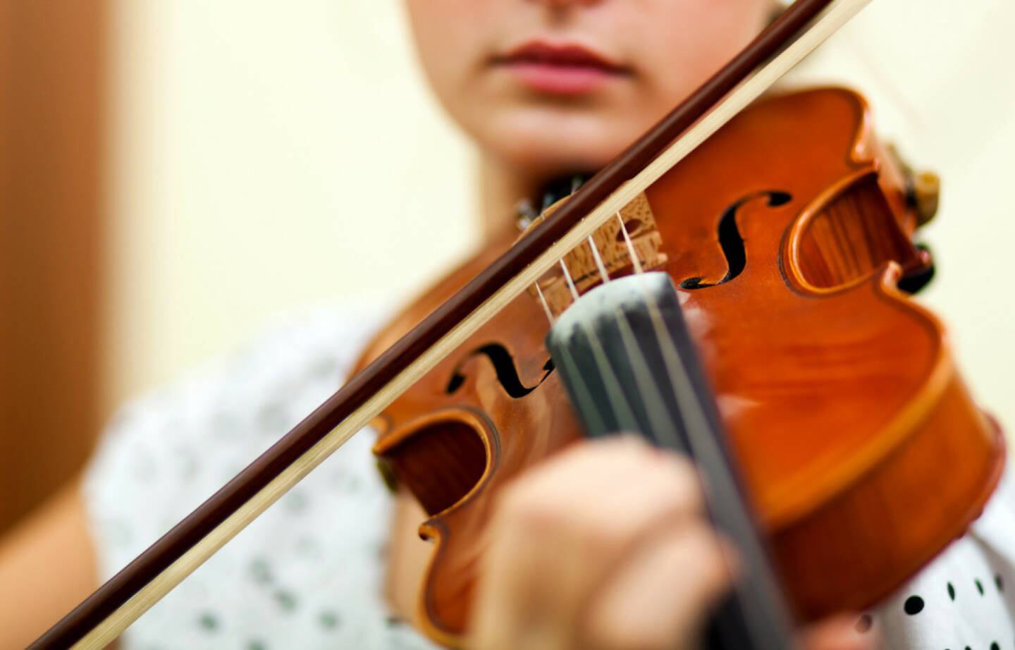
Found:
[[[387,313],[321,310],[123,408],[85,478],[100,577],[334,392]],[[121,647],[433,648],[382,598],[392,503],[371,442],[369,432],[353,437],[138,620]],[[858,629],[876,630],[891,650],[1015,650],[1012,504],[1006,478],[969,533]]]

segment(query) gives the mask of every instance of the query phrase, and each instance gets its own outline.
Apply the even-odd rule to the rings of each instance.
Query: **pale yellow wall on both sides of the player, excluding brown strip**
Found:
[[[114,5],[111,405],[297,306],[407,294],[476,241],[471,152],[396,0]],[[798,73],[863,88],[944,178],[925,302],[1009,426],[1013,27],[1010,0],[874,0]]]

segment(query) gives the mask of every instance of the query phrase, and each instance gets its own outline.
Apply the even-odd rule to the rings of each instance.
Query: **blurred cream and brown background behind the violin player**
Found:
[[[858,87],[941,175],[921,300],[1008,427],[1013,28],[1010,0],[875,0],[792,81]],[[0,530],[125,399],[478,243],[397,0],[0,0]]]

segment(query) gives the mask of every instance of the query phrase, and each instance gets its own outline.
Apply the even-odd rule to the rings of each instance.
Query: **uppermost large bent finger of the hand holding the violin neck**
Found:
[[[637,441],[579,445],[524,475],[490,526],[475,647],[505,635],[514,647],[574,647],[589,595],[627,548],[699,507],[690,463]]]

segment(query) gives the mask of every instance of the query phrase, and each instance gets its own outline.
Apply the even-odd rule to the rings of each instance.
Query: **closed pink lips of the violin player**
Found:
[[[530,89],[548,94],[592,92],[630,75],[630,69],[583,46],[542,41],[527,43],[493,62]]]

